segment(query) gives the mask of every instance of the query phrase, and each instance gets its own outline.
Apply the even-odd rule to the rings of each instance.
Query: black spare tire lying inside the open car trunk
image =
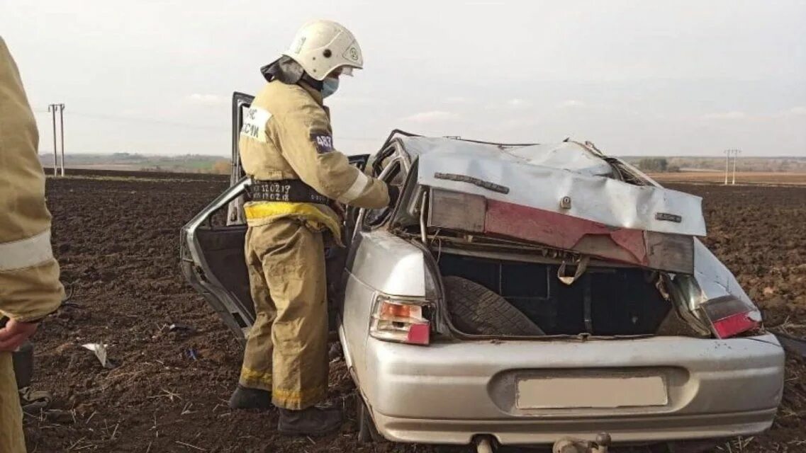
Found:
[[[451,322],[472,335],[542,336],[537,324],[506,299],[467,278],[442,278]]]

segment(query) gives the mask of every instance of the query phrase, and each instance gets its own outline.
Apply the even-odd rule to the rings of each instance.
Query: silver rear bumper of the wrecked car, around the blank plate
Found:
[[[771,426],[783,391],[775,336],[702,340],[462,341],[422,348],[369,338],[357,376],[380,434],[414,443],[551,443],[565,435],[641,443],[755,434]],[[521,409],[525,377],[663,377],[662,406]],[[595,382],[595,380],[594,380]]]

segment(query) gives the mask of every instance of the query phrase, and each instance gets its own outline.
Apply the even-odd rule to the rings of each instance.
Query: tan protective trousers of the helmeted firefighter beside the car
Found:
[[[285,409],[314,406],[328,373],[322,233],[302,220],[272,220],[247,229],[245,252],[257,316],[240,384],[270,390]]]

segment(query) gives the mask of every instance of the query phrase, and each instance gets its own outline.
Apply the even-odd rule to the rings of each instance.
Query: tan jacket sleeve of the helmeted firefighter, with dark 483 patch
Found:
[[[277,145],[303,182],[323,196],[359,208],[389,203],[386,184],[350,165],[334,150],[330,120],[310,96],[292,93],[287,108],[276,113]]]

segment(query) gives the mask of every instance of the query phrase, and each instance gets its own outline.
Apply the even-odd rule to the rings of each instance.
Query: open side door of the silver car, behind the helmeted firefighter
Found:
[[[247,231],[243,202],[251,185],[241,167],[238,142],[243,115],[253,97],[232,96],[232,171],[230,187],[202,209],[181,229],[180,263],[185,279],[199,291],[240,340],[245,340],[255,323],[255,305],[249,290],[249,276],[243,254]],[[368,155],[351,156],[362,170]],[[351,233],[351,232],[345,232]],[[350,237],[350,234],[345,234]],[[338,299],[345,249],[326,250],[328,302],[330,311]],[[332,319],[332,317],[331,317]]]

